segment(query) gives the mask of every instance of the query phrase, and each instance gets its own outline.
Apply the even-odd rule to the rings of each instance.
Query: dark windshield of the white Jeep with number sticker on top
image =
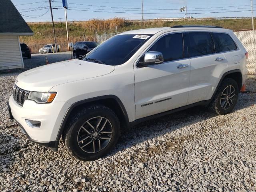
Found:
[[[89,52],[83,59],[106,65],[121,65],[128,61],[134,53],[152,35],[116,35]]]

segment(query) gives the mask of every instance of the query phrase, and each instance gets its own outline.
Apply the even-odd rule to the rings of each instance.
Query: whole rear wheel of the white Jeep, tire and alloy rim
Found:
[[[228,114],[236,106],[238,94],[237,82],[231,78],[224,78],[209,104],[209,108],[219,115]]]

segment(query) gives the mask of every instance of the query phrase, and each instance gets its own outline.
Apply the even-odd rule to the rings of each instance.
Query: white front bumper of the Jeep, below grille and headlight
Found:
[[[10,118],[16,120],[28,139],[37,144],[58,149],[58,133],[66,111],[70,107],[67,102],[52,102],[37,104],[32,100],[25,100],[23,106],[18,105],[12,96],[8,101]],[[40,128],[32,128],[25,119],[38,120]]]

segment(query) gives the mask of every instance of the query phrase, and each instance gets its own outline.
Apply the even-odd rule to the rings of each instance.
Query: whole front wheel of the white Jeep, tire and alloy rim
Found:
[[[62,139],[70,154],[80,160],[91,161],[105,156],[119,136],[120,122],[116,114],[106,106],[93,105],[72,115]]]

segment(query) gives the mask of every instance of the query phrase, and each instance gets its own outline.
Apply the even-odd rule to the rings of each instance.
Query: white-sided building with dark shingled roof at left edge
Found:
[[[20,35],[34,35],[10,0],[0,0],[0,70],[24,68]]]

